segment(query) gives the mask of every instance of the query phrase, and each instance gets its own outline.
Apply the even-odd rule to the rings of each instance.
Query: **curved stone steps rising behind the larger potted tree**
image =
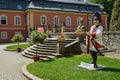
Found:
[[[69,44],[74,41],[73,39],[66,39],[65,43]],[[57,53],[57,39],[47,38],[44,44],[32,45],[31,47],[25,49],[22,55],[28,58],[33,58],[36,53],[40,56],[41,60],[50,60],[57,57],[62,57],[62,54]]]

